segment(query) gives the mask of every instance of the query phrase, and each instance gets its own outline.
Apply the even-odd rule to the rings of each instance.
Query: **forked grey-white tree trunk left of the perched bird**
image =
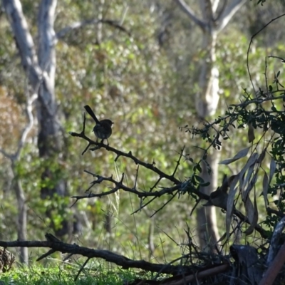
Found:
[[[44,161],[56,160],[61,163],[63,150],[61,142],[58,110],[54,93],[56,73],[56,33],[53,28],[56,13],[56,0],[43,0],[38,10],[38,52],[28,29],[22,11],[21,1],[2,0],[14,33],[16,46],[19,49],[21,63],[26,72],[31,92],[38,95],[36,104],[38,116],[38,153]],[[46,166],[41,178],[52,181],[54,186],[41,188],[41,197],[50,198],[57,194],[66,196],[66,182],[57,177],[50,167]],[[45,183],[43,183],[44,185]],[[21,202],[19,200],[19,202]],[[60,209],[58,209],[60,210]],[[63,209],[64,210],[64,209]],[[63,222],[58,235],[70,233],[71,225]]]

